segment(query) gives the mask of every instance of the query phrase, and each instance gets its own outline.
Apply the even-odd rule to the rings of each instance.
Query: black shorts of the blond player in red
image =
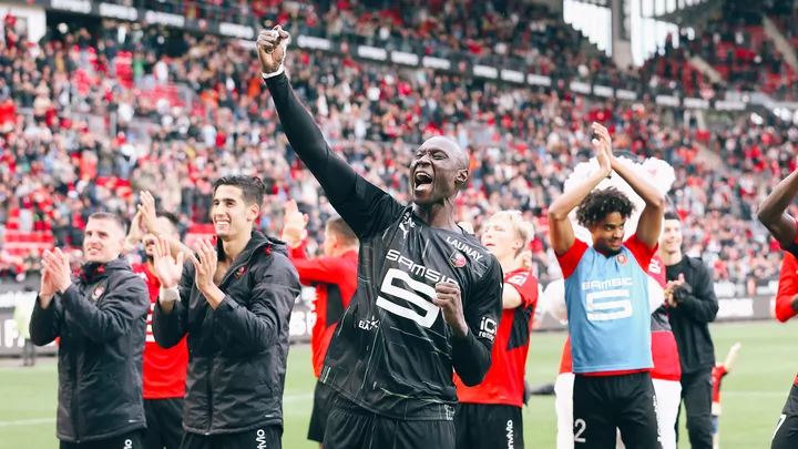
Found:
[[[523,449],[521,407],[459,404],[454,411],[457,449]]]

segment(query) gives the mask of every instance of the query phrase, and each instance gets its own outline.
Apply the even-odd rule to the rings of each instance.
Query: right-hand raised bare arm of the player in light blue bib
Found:
[[[606,135],[606,139],[610,139],[610,132],[606,127],[594,123],[593,129],[600,136],[604,137],[604,135]],[[608,150],[613,171],[626,181],[632,190],[645,202],[645,207],[637,223],[637,238],[649,248],[655,248],[659,242],[659,234],[662,233],[662,222],[665,215],[665,198],[654,185],[613,156],[612,147],[608,147]]]

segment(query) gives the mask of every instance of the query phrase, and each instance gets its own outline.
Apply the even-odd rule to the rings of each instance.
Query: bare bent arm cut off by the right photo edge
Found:
[[[798,256],[798,229],[796,221],[787,214],[787,207],[798,195],[798,171],[792,172],[765,198],[757,218],[773,234],[782,248]]]

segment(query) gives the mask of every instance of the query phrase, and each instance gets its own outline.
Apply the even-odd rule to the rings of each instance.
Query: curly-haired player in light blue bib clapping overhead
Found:
[[[606,127],[594,123],[593,131],[600,170],[549,208],[550,238],[565,279],[575,375],[574,447],[614,448],[617,428],[627,448],[657,449],[647,268],[656,254],[665,200],[617,162]],[[594,191],[613,171],[645,202],[637,232],[626,242],[624,224],[633,203],[613,187]],[[569,214],[577,206],[577,222],[591,232],[592,247],[574,236]]]

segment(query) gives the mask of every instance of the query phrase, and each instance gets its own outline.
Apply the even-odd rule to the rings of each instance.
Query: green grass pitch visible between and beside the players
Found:
[[[714,325],[712,330],[719,359],[725,358],[735,341],[743,343],[738,366],[723,384],[723,448],[768,448],[798,370],[798,344],[794,339],[798,325],[727,324]],[[532,385],[554,381],[564,337],[564,334],[533,335],[526,370]],[[309,349],[291,349],[284,402],[286,449],[317,447],[306,440],[314,385]],[[58,447],[57,386],[53,363],[41,363],[34,368],[0,367],[0,449]],[[526,447],[553,449],[554,398],[533,397],[523,414]],[[682,448],[689,447],[686,438],[686,430],[682,430]]]

